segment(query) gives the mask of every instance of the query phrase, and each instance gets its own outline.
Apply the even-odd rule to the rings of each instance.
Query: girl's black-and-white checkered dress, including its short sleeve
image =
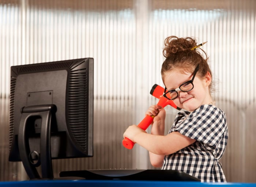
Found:
[[[221,159],[227,144],[225,113],[212,105],[202,105],[193,112],[177,114],[169,133],[178,131],[196,142],[166,155],[162,169],[178,170],[202,182],[226,182]]]

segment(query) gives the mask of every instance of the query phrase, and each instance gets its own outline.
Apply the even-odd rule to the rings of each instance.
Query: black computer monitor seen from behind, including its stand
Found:
[[[12,66],[9,161],[49,179],[52,159],[91,156],[93,58]]]

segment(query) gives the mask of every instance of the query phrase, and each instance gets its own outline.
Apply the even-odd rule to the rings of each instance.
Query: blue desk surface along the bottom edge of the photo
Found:
[[[0,187],[256,187],[256,183],[201,183],[135,180],[30,180],[0,182]]]

